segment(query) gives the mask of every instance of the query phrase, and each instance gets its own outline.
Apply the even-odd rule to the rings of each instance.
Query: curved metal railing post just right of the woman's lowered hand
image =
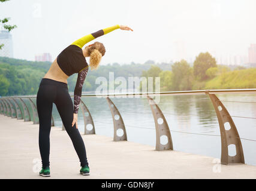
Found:
[[[94,120],[92,119],[92,115],[82,100],[81,100],[81,103],[82,103],[81,109],[83,113],[83,121],[85,123],[85,135],[95,134]],[[90,126],[91,126],[91,129],[90,129]]]

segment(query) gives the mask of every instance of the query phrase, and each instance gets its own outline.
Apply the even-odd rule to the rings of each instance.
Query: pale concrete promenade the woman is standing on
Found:
[[[91,169],[91,175],[83,176],[73,144],[59,127],[52,127],[50,134],[51,177],[41,177],[34,172],[41,168],[38,127],[0,115],[0,178],[256,178],[256,166],[216,165],[208,156],[158,152],[153,146],[114,142],[103,135],[82,135]],[[219,167],[221,172],[213,172]]]

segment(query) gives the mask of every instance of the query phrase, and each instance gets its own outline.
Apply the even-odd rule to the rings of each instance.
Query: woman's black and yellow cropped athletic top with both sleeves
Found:
[[[83,82],[85,81],[88,72],[88,63],[86,62],[82,51],[83,46],[95,38],[106,35],[107,33],[119,28],[119,24],[116,24],[115,26],[107,27],[106,29],[101,29],[97,32],[83,36],[77,41],[74,41],[58,55],[57,63],[67,76],[71,76],[73,73],[78,73],[76,87],[74,90],[74,113],[78,113]]]

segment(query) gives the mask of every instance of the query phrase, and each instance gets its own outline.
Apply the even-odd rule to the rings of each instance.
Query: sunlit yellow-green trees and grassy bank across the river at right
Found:
[[[216,64],[215,58],[207,52],[200,53],[192,67],[186,60],[171,64],[170,70],[152,65],[149,70],[143,71],[142,76],[160,77],[161,91],[256,87],[256,68],[237,66],[231,71],[228,66]]]

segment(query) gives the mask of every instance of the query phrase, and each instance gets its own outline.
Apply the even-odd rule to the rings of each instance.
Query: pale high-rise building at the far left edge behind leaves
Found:
[[[11,33],[8,30],[0,31],[0,45],[4,44],[4,47],[0,50],[1,57],[13,57],[13,39]]]

